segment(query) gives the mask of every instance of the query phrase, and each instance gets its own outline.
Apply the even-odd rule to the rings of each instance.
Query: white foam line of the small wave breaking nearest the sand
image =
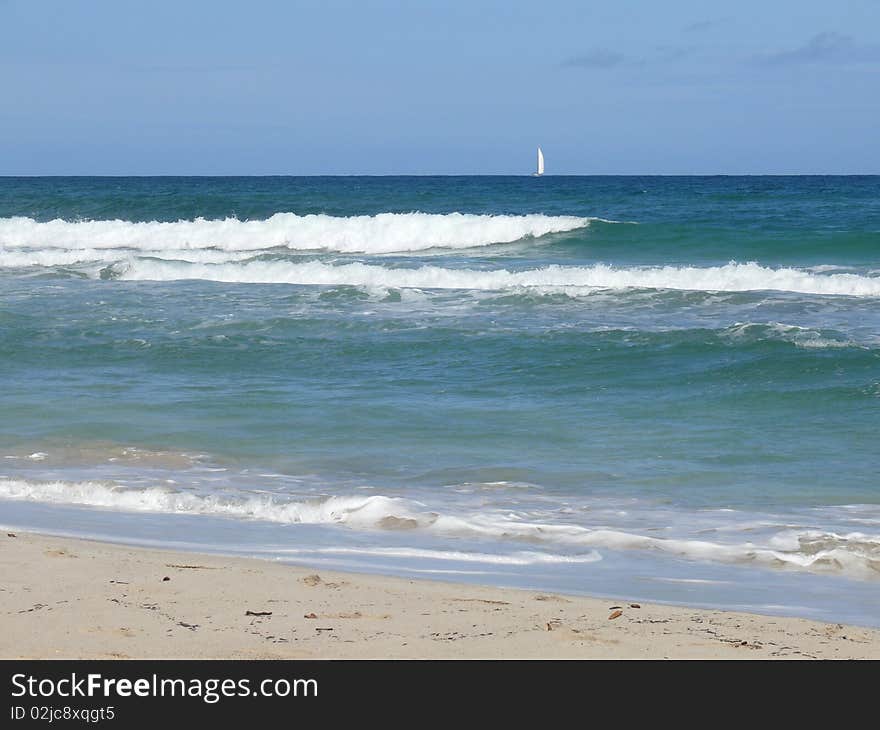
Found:
[[[162,487],[133,489],[102,482],[0,479],[0,497],[122,511],[200,514],[284,524],[340,524],[355,529],[420,530],[445,537],[480,537],[568,548],[658,551],[708,562],[786,567],[880,578],[880,536],[861,532],[786,530],[763,544],[654,537],[580,524],[529,522],[507,513],[439,514],[419,502],[382,495],[278,501],[270,496],[206,496]],[[579,559],[579,558],[578,558]]]

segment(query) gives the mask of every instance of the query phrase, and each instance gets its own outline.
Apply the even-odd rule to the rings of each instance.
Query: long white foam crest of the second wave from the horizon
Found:
[[[375,264],[326,264],[319,261],[251,261],[242,264],[178,264],[133,261],[117,276],[130,280],[204,279],[240,283],[285,283],[402,289],[517,290],[578,294],[595,289],[682,289],[701,291],[775,290],[805,294],[880,296],[880,277],[811,274],[771,269],[756,263],[724,266],[614,267],[547,266],[540,269],[452,269],[439,266],[392,268]]]

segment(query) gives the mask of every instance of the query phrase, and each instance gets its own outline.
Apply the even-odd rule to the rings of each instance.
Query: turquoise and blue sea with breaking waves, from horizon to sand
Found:
[[[0,522],[880,625],[880,178],[2,178]]]

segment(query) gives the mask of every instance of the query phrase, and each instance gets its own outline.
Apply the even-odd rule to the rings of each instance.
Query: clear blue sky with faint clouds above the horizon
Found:
[[[0,0],[0,175],[880,173],[877,0]]]

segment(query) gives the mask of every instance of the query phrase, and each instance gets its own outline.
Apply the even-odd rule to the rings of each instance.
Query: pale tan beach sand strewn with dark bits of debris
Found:
[[[880,659],[841,624],[23,533],[0,575],[7,659]]]

